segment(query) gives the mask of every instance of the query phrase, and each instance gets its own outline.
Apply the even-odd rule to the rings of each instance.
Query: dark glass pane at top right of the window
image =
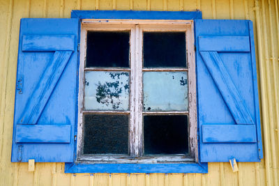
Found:
[[[144,67],[186,67],[185,32],[144,32]]]

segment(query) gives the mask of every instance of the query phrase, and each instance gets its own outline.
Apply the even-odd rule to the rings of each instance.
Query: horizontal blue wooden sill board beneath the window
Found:
[[[65,164],[65,173],[208,173],[206,163]]]

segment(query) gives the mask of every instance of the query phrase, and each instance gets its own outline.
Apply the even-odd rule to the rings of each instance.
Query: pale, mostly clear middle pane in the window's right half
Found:
[[[144,72],[144,111],[187,111],[187,72]]]

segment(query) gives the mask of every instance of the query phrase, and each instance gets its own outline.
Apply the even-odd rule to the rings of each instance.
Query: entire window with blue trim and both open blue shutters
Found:
[[[92,17],[95,22],[86,20]],[[90,49],[85,48],[87,33],[99,38],[96,42],[123,42],[110,52],[113,63],[102,49],[112,44],[98,44],[96,51],[89,52],[91,57],[85,56],[85,49]],[[179,37],[186,41],[174,39]],[[22,19],[12,162],[65,162],[66,173],[207,173],[207,162],[229,162],[232,158],[259,162],[263,155],[253,37],[251,21],[202,20],[199,11],[73,10],[70,19]],[[158,38],[179,40],[177,46],[185,44],[186,49],[173,53],[179,60],[170,64],[163,60],[168,57],[160,59],[179,50],[172,49],[174,42],[167,52],[163,41],[154,47],[153,40]],[[89,58],[86,63],[85,57]],[[92,62],[92,57],[102,61]],[[171,78],[166,78],[169,75]],[[178,85],[170,83],[176,75]],[[172,88],[162,86],[161,79]],[[184,107],[187,99],[181,97],[187,88],[179,89],[186,84],[188,110]],[[160,88],[153,86],[167,91],[161,95]],[[94,87],[100,91],[93,94],[98,104],[90,100],[90,88]],[[176,94],[173,87],[179,90],[172,96],[179,104],[165,107],[173,101],[156,98]],[[103,94],[104,90],[110,93]],[[89,99],[86,105],[82,103],[85,93]],[[82,101],[78,102],[78,97]],[[173,118],[176,123],[169,127]],[[113,125],[105,125],[111,121]],[[106,133],[111,127],[114,133]],[[178,130],[181,134],[176,135]],[[179,143],[169,140],[174,135]],[[103,136],[109,145],[99,143]],[[180,137],[188,142],[182,144]],[[158,141],[160,138],[165,141]],[[121,139],[118,146],[113,145],[115,139]]]

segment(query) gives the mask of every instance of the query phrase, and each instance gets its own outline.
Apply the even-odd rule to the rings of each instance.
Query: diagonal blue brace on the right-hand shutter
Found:
[[[199,45],[201,45],[199,43]],[[199,52],[236,124],[254,124],[227,68],[217,52]]]

